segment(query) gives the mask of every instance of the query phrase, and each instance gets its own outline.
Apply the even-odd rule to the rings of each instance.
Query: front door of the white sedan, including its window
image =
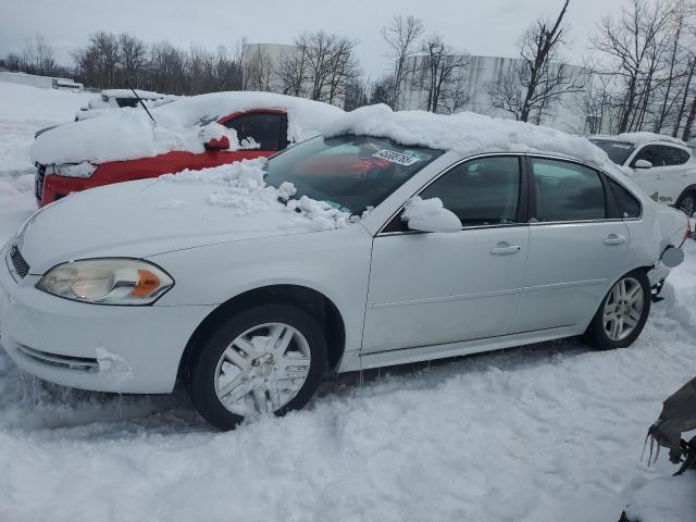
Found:
[[[509,333],[529,246],[521,172],[517,156],[461,163],[420,192],[461,231],[414,233],[397,215],[376,235],[363,353]]]

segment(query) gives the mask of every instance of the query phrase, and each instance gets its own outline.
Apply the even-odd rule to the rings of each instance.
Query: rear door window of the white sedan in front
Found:
[[[605,190],[592,169],[566,161],[532,158],[536,217],[540,222],[606,217]]]

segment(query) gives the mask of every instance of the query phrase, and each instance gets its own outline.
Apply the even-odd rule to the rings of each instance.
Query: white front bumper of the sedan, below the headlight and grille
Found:
[[[115,307],[74,302],[18,282],[0,251],[0,344],[39,378],[96,391],[174,388],[188,339],[214,306]]]

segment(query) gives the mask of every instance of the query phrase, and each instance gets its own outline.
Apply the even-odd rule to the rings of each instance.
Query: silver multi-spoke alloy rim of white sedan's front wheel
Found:
[[[239,415],[272,413],[297,396],[307,381],[311,351],[304,336],[284,323],[253,326],[223,351],[215,394]]]

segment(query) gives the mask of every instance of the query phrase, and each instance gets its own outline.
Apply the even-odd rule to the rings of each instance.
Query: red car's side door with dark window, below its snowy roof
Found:
[[[223,165],[239,160],[273,156],[287,147],[287,114],[283,111],[250,111],[220,121],[237,132],[241,149],[207,150],[194,156],[194,169]]]

